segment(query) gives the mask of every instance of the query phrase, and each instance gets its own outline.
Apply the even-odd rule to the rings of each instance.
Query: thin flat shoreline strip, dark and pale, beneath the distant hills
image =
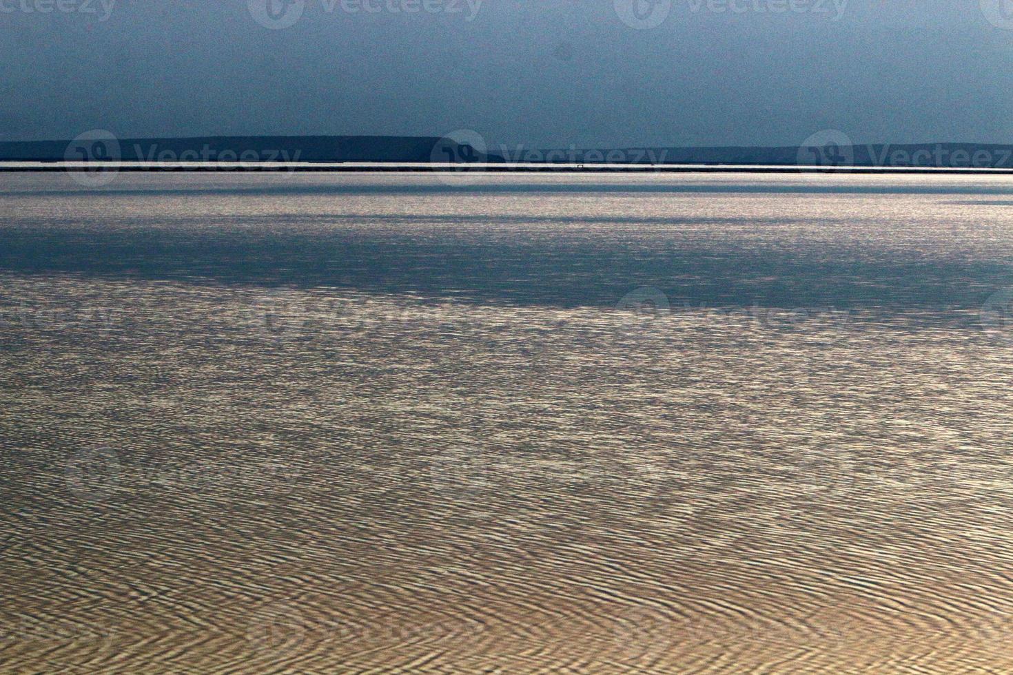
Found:
[[[754,164],[422,164],[403,162],[0,162],[0,173],[827,173],[1013,175],[1013,168]]]

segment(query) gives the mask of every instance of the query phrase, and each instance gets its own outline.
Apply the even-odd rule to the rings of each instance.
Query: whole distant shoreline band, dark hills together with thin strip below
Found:
[[[1013,171],[1013,145],[855,145],[821,132],[801,146],[492,147],[474,133],[437,137],[199,137],[120,139],[93,130],[71,141],[0,142],[0,164],[23,170],[115,164],[124,171],[434,171],[477,167],[503,172]]]

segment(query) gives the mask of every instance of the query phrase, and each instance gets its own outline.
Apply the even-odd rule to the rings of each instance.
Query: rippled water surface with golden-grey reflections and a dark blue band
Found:
[[[1011,193],[0,175],[0,670],[1011,672]]]

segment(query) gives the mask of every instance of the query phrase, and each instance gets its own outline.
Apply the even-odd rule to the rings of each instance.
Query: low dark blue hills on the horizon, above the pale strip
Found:
[[[487,154],[437,137],[397,136],[214,136],[125,139],[124,161],[301,161],[301,162],[489,162],[575,164],[739,164],[856,167],[1013,168],[1013,146],[958,143],[822,147],[537,149],[500,146]],[[102,159],[104,146],[88,156],[88,142],[0,143],[0,161],[58,162]],[[113,151],[114,152],[114,151]]]

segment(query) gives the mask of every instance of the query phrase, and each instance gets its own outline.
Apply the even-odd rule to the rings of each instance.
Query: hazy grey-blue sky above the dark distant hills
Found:
[[[251,1],[0,0],[0,140],[1013,143],[1010,0]]]

